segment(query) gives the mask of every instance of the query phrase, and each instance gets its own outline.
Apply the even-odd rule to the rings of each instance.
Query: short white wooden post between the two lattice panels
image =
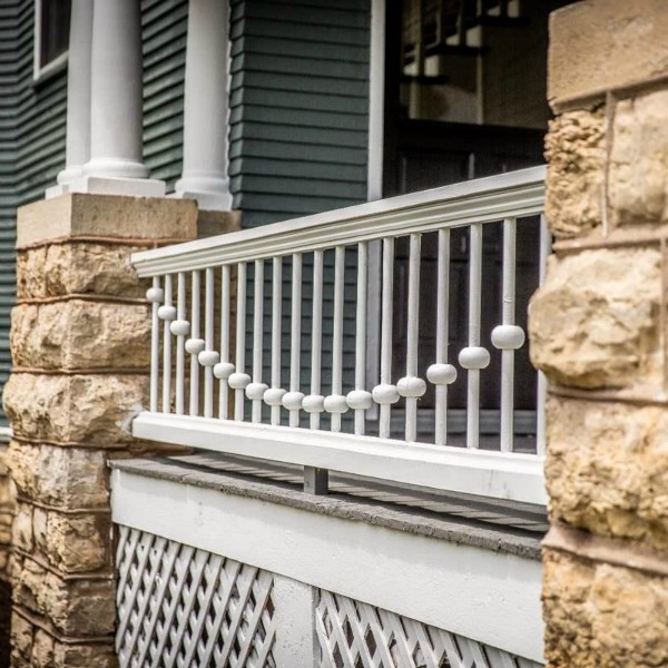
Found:
[[[272,601],[276,640],[272,655],[276,666],[315,666],[314,589],[292,578],[274,574]]]

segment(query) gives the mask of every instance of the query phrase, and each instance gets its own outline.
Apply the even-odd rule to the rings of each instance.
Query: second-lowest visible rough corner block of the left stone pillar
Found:
[[[46,617],[68,636],[104,636],[114,631],[111,579],[62,580],[30,559],[22,559],[14,571],[14,606]]]

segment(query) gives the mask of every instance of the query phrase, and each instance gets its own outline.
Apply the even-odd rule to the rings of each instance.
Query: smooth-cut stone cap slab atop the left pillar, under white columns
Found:
[[[166,197],[68,194],[22,206],[17,248],[69,236],[197,238],[197,205]]]

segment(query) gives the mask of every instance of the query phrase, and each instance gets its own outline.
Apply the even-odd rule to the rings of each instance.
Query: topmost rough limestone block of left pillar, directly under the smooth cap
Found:
[[[19,252],[18,297],[96,294],[143,298],[148,283],[140,281],[130,265],[130,255],[143,249],[71,242]]]

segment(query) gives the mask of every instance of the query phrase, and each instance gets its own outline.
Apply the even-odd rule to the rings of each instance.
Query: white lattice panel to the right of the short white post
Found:
[[[320,668],[539,668],[475,640],[320,591]]]

